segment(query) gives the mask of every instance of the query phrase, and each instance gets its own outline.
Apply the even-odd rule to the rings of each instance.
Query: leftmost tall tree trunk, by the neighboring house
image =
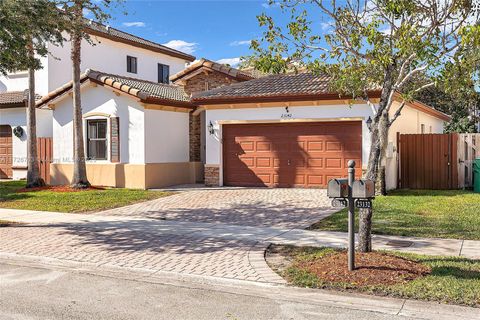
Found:
[[[28,45],[30,58],[34,57],[33,45]],[[35,70],[28,69],[27,101],[27,188],[42,187],[45,182],[40,177],[37,159],[37,121],[35,108]]]

